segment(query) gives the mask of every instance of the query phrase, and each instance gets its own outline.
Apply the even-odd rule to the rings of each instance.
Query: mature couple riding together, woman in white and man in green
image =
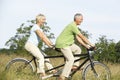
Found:
[[[80,44],[82,44],[87,49],[95,47],[94,44],[91,44],[88,39],[81,34],[78,29],[78,25],[83,21],[83,16],[80,13],[74,15],[74,20],[68,24],[56,40],[55,47],[59,48],[63,55],[66,58],[66,64],[64,66],[62,74],[59,76],[59,80],[65,80],[70,74],[72,68],[77,68],[79,62],[74,63],[74,54],[81,54],[81,49],[74,43],[76,38]],[[36,57],[38,62],[37,73],[41,76],[45,76],[44,70],[44,56],[38,48],[38,43],[42,40],[50,48],[53,48],[53,43],[47,38],[43,33],[41,27],[46,22],[46,18],[43,14],[36,16],[36,24],[31,28],[30,37],[28,38],[25,49],[29,51],[33,56]],[[48,63],[46,66],[51,69],[53,66]],[[53,72],[56,72],[53,70]]]

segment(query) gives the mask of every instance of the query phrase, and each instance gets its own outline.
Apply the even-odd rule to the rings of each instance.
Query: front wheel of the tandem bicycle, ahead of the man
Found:
[[[83,80],[110,80],[111,72],[109,68],[98,61],[93,62],[94,70],[89,63],[83,70],[82,79]]]

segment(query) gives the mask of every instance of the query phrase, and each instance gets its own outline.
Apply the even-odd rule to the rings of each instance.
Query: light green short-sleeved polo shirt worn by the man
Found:
[[[75,24],[71,22],[68,24],[62,33],[58,36],[56,40],[56,48],[64,48],[74,43],[74,37],[76,34],[79,34],[80,31]]]

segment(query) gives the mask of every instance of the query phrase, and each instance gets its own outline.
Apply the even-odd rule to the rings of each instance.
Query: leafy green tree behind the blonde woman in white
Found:
[[[35,20],[27,21],[27,24],[28,25],[25,23],[21,24],[15,36],[11,37],[5,44],[15,53],[25,52],[24,45],[30,35],[30,29],[35,24]],[[54,39],[54,34],[50,32],[51,28],[49,26],[43,26],[42,29],[49,39]],[[41,41],[39,47],[41,48],[42,46],[44,46],[44,44]]]

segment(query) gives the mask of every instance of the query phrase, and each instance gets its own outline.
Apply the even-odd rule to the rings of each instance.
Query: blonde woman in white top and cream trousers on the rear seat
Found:
[[[36,57],[38,62],[37,73],[41,76],[45,76],[44,70],[44,56],[40,49],[38,48],[38,44],[40,40],[42,40],[46,45],[50,48],[53,47],[53,43],[47,38],[47,36],[43,33],[41,27],[44,26],[46,22],[46,18],[43,14],[39,14],[36,16],[36,24],[30,30],[30,37],[28,38],[25,49],[29,51],[34,57]],[[47,61],[49,61],[47,59]],[[52,65],[46,63],[48,68],[52,68]]]

